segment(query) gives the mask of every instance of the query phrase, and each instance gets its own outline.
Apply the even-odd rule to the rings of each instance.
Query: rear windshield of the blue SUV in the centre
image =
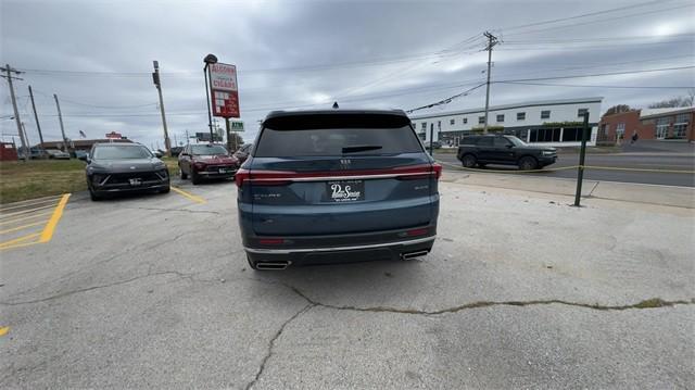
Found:
[[[380,155],[418,153],[420,141],[409,126],[395,128],[264,128],[256,158]]]

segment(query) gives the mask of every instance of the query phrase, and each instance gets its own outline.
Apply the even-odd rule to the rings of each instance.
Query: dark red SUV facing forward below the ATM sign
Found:
[[[233,177],[239,165],[239,160],[229,155],[225,147],[214,143],[187,144],[178,155],[181,179],[190,176],[194,185],[203,178]]]

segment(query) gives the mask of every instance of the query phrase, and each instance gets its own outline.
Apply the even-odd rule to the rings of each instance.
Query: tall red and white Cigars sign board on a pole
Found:
[[[239,117],[239,88],[237,66],[210,64],[210,97],[213,116]]]

